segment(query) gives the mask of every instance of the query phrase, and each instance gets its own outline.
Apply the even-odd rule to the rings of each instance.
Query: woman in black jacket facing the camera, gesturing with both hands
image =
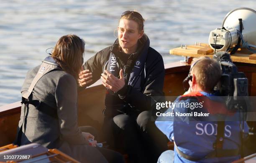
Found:
[[[118,39],[85,62],[79,85],[100,78],[107,89],[103,129],[108,143],[125,150],[133,162],[156,162],[167,149],[165,136],[152,120],[163,96],[164,62],[149,46],[140,13],[121,15]]]

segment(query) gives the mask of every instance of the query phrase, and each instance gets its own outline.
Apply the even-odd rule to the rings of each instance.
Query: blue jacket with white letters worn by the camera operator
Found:
[[[218,99],[220,97],[208,94],[206,92],[200,92],[204,96],[210,99]],[[175,102],[179,103],[193,103],[198,102],[195,98],[181,99],[178,97]],[[208,113],[205,108],[197,108],[191,110],[186,107],[174,107],[166,110],[167,112],[173,112],[174,116],[171,117],[158,117],[156,120],[156,126],[169,138],[171,141],[175,141],[176,147],[179,148],[182,153],[186,155],[202,158],[199,162],[202,163],[226,163],[238,160],[240,155],[232,157],[221,157],[221,158],[204,158],[208,153],[214,151],[213,144],[217,138],[217,126],[218,122],[215,115],[210,114],[208,117],[197,117],[194,116],[194,112]],[[176,112],[179,113],[191,113],[192,116],[188,115],[185,117],[175,116]],[[231,117],[237,116],[234,114]],[[230,116],[228,116],[230,118]],[[214,122],[215,121],[215,122]],[[241,146],[241,132],[239,128],[239,121],[225,122],[225,131],[223,139],[223,149],[238,149]],[[244,132],[248,133],[248,126],[244,122]],[[174,140],[173,140],[174,138]],[[174,163],[195,163],[195,161],[187,160],[181,157],[174,148]],[[198,162],[198,161],[197,161]]]

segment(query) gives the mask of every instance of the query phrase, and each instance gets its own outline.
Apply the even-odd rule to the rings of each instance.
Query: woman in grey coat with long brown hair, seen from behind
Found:
[[[96,148],[96,141],[89,145],[94,136],[77,126],[77,79],[84,45],[76,35],[62,36],[52,55],[28,71],[21,89],[17,144],[57,148],[81,162],[123,162],[119,153]]]

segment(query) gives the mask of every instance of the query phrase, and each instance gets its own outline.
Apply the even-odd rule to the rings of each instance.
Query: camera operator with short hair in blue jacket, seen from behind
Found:
[[[192,109],[176,105],[166,111],[174,112],[173,117],[158,117],[156,126],[175,145],[174,151],[167,150],[161,154],[159,163],[220,163],[241,158],[241,134],[248,131],[248,126],[244,122],[241,133],[239,121],[225,122],[223,117],[234,116],[236,113],[226,109],[221,103],[222,97],[216,96],[214,92],[221,74],[220,64],[213,59],[200,57],[193,61],[187,77],[189,90],[175,102],[201,102],[203,107]],[[198,112],[210,113],[210,116],[198,116]],[[181,117],[177,113],[191,113],[192,116]]]

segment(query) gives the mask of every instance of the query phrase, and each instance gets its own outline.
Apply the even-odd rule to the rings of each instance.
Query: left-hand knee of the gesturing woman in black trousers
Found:
[[[131,126],[133,126],[133,120],[128,115],[116,115],[113,118],[113,122],[115,125],[117,125],[120,129],[127,129]]]

